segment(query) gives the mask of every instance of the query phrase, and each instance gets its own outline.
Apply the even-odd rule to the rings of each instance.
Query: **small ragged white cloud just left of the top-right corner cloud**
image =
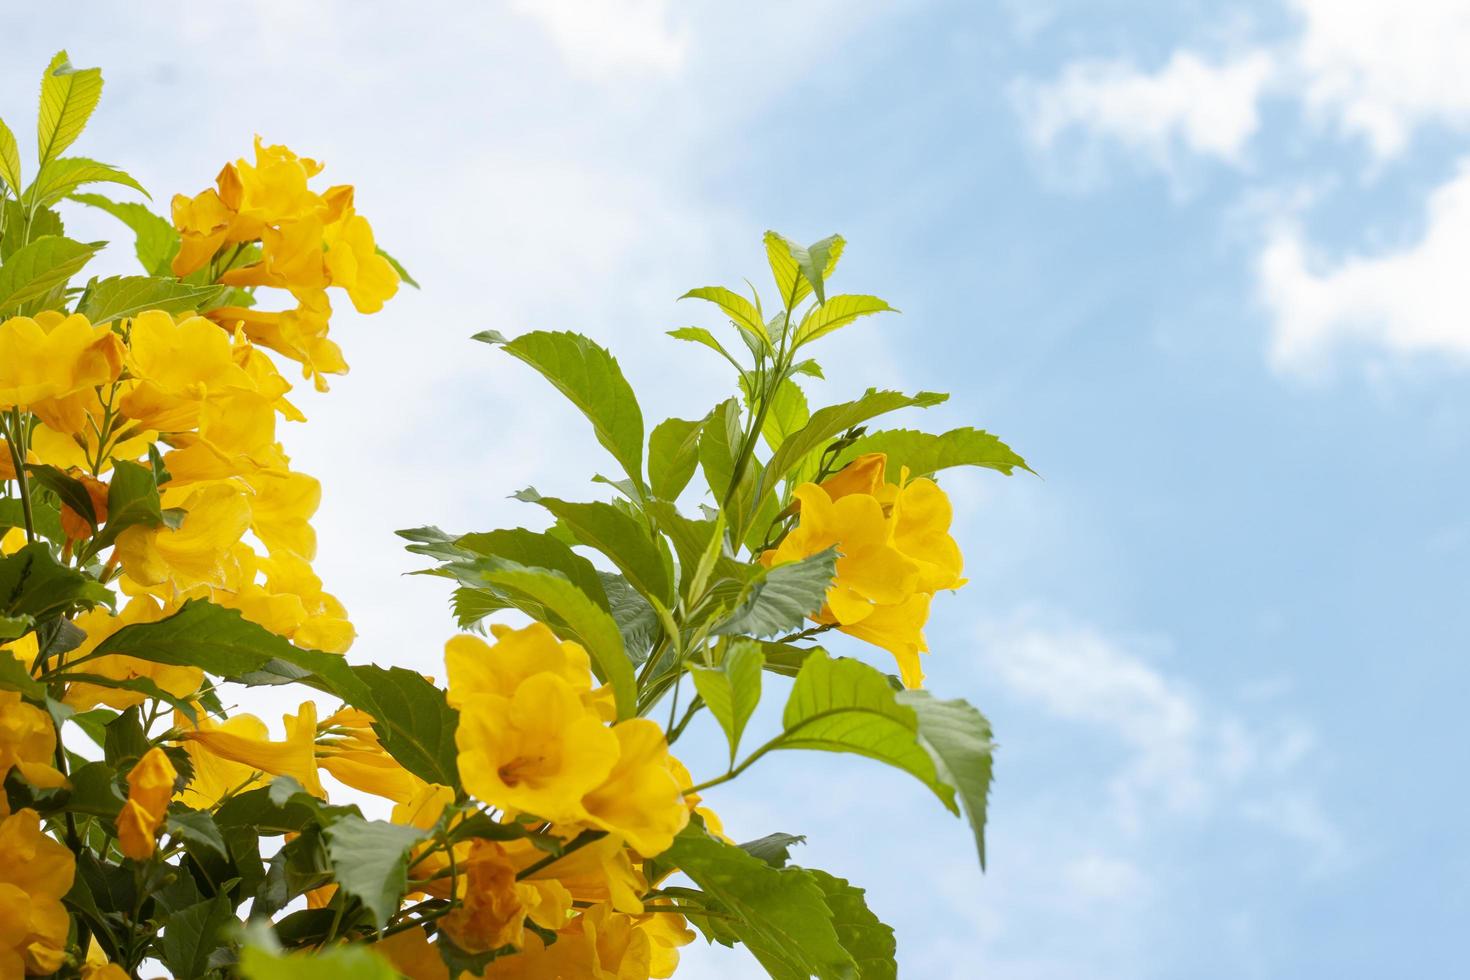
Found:
[[[1239,163],[1260,126],[1257,101],[1272,72],[1264,51],[1214,63],[1175,51],[1155,72],[1127,60],[1076,62],[1055,81],[1017,82],[1013,96],[1044,150],[1080,131],[1117,140],[1161,167],[1180,148]]]

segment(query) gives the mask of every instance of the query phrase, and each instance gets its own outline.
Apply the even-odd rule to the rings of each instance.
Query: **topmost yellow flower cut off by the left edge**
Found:
[[[85,316],[41,313],[0,323],[0,408],[21,407],[47,425],[76,432],[85,423],[84,403],[71,395],[116,381],[122,341],[106,325]]]

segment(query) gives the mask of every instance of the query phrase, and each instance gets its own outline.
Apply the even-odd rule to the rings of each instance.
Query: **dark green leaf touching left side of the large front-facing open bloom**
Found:
[[[353,667],[353,673],[372,695],[373,730],[388,755],[419,779],[457,790],[459,711],[444,699],[444,691],[403,667],[369,664]]]

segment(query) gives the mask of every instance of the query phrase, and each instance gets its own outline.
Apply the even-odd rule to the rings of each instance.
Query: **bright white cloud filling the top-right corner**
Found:
[[[1292,0],[1307,103],[1382,157],[1426,122],[1470,126],[1470,4],[1464,0]]]

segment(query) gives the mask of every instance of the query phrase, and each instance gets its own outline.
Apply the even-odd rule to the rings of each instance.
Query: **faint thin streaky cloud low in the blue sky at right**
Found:
[[[1342,836],[1310,788],[1320,764],[1311,729],[1289,716],[1244,717],[1210,704],[1139,646],[1157,644],[1120,642],[1036,608],[982,629],[985,667],[1011,696],[1123,748],[1107,792],[1126,835],[1175,818],[1248,821],[1304,845],[1313,867],[1336,862]],[[1098,887],[1145,884],[1125,871],[1092,870]]]

